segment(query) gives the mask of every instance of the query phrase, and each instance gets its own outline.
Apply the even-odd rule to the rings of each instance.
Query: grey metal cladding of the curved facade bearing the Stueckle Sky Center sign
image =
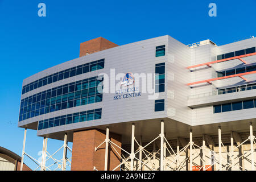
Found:
[[[118,46],[118,47],[106,49],[104,51],[92,53],[90,55],[86,55],[78,59],[71,60],[60,65],[56,65],[55,67],[49,68],[46,71],[42,71],[36,75],[26,78],[23,81],[23,85],[26,85],[29,82],[35,81],[44,76],[51,75],[52,73],[55,73],[57,71],[62,71],[64,69],[75,67],[76,65],[89,63],[90,61],[105,59],[104,69],[100,69],[100,70],[89,72],[89,73],[84,73],[79,76],[74,76],[61,81],[57,81],[53,84],[42,86],[39,89],[32,90],[22,95],[22,98],[28,97],[35,93],[42,92],[43,90],[47,90],[49,88],[54,88],[56,86],[67,84],[69,82],[97,76],[100,73],[105,73],[104,75],[104,92],[105,93],[103,94],[102,102],[72,107],[69,109],[64,109],[64,110],[59,110],[59,111],[55,111],[48,114],[39,115],[38,117],[33,117],[33,118],[26,119],[24,121],[19,122],[18,126],[24,127],[24,125],[27,125],[33,122],[38,122],[43,119],[57,117],[59,115],[64,115],[64,114],[77,113],[79,111],[85,111],[90,109],[99,109],[99,108],[102,108],[101,119],[86,121],[81,123],[73,123],[73,124],[64,125],[64,126],[52,127],[50,129],[44,129],[44,131],[42,130],[38,132],[39,133],[55,133],[56,131],[60,131],[60,130],[64,131],[64,130],[90,127],[90,126],[107,125],[110,123],[139,121],[139,120],[145,120],[145,119],[166,117],[166,114],[167,114],[166,110],[158,111],[158,112],[154,111],[155,100],[158,100],[158,99],[166,100],[166,97],[167,97],[166,92],[159,93],[159,96],[156,97],[155,99],[148,99],[148,96],[152,96],[154,94],[155,64],[164,63],[164,62],[166,63],[166,60],[167,60],[167,51],[166,51],[166,56],[155,57],[155,47],[162,46],[162,45],[166,45],[166,50],[167,50],[168,36],[161,36],[159,38],[143,40],[141,42],[135,42],[135,43],[127,44],[124,46]],[[133,76],[135,77],[134,86],[135,87],[138,86],[139,91],[141,91],[141,96],[131,97],[131,98],[122,98],[121,100],[114,100],[114,96],[116,96],[117,93],[114,93],[114,92],[106,93],[107,90],[109,92],[111,90],[110,88],[108,89],[108,85],[106,84],[105,81],[108,80],[109,86],[114,84],[115,87],[118,89],[120,88],[120,83],[122,81],[123,76],[125,75],[125,73],[129,73],[129,72],[132,73]],[[143,84],[145,81],[143,81],[142,78],[139,78],[140,76],[143,76],[143,75],[148,76],[149,78],[147,80],[152,81],[152,84],[150,85],[151,93],[148,93],[148,92],[144,93],[143,91]],[[166,72],[166,76],[167,76],[167,72]],[[167,88],[167,84],[165,86]]]

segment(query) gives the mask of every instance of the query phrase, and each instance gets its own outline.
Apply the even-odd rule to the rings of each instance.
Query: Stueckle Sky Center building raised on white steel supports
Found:
[[[42,170],[47,138],[64,141],[63,170],[255,170],[255,47],[168,35],[81,43],[79,58],[23,80],[22,160],[31,129]]]

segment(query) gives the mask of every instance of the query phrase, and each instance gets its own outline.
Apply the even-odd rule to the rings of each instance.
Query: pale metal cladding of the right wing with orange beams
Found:
[[[233,51],[239,51],[241,49],[246,49],[250,47],[256,46],[256,39],[246,39],[235,43],[226,44],[224,46],[218,46],[215,47],[215,55],[221,55],[222,53],[229,53]],[[247,64],[255,64],[256,63],[256,56],[249,56],[249,57],[243,57],[243,60],[246,61]],[[215,57],[216,60],[216,57]],[[205,62],[207,62],[206,60]],[[214,61],[210,60],[210,61]],[[200,63],[196,63],[200,64]],[[213,64],[212,68],[214,68],[216,71],[222,71],[226,69],[234,69],[238,67],[245,66],[246,64],[242,63],[242,61],[236,59],[236,60],[230,60],[225,61],[222,63]],[[202,69],[202,68],[201,68]],[[205,68],[210,69],[210,68]],[[215,72],[215,71],[214,71]],[[199,75],[195,81],[200,80],[206,80],[209,78],[217,77],[217,73],[215,72],[212,77],[209,76],[209,73],[205,72],[202,75]],[[243,76],[247,78],[249,82],[246,82],[245,80],[242,80],[240,77],[233,77],[233,78],[227,78],[224,80],[217,80],[212,82],[212,85],[208,84],[208,87],[212,87],[214,90],[217,88],[230,88],[237,85],[243,85],[243,84],[250,84],[255,82],[256,80],[256,74],[251,75],[245,75]],[[237,93],[227,93],[227,94],[221,94],[217,96],[209,96],[208,94],[211,94],[210,90],[203,90],[204,88],[207,88],[207,83],[201,84],[201,86],[195,86],[200,88],[200,92],[197,89],[196,91],[193,91],[192,95],[199,95],[201,93],[204,93],[204,97],[200,98],[194,98],[188,101],[188,106],[195,106],[192,110],[192,125],[207,125],[211,123],[220,123],[220,122],[230,122],[230,121],[239,121],[239,120],[246,120],[246,119],[255,119],[255,108],[252,109],[243,109],[243,110],[236,110],[236,111],[227,111],[224,113],[213,113],[213,105],[216,104],[225,104],[235,101],[242,101],[242,100],[248,100],[255,97],[255,90],[247,90],[237,92]]]

